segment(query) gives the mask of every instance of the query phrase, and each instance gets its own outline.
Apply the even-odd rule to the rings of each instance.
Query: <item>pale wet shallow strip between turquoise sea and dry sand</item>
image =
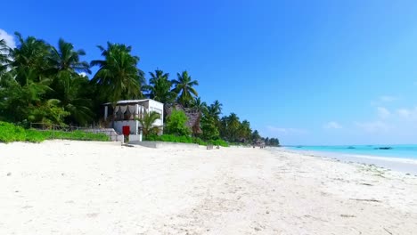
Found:
[[[315,151],[315,150],[290,150],[282,147],[282,151],[290,153],[298,153],[309,157],[331,158],[345,163],[358,163],[365,165],[374,165],[389,170],[417,175],[417,160],[412,158],[390,158],[382,156],[347,154],[331,151]]]

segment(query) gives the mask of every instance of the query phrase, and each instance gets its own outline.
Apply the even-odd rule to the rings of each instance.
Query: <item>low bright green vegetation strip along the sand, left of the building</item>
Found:
[[[45,140],[74,140],[108,142],[106,134],[85,133],[82,131],[61,132],[24,129],[11,123],[0,122],[0,142],[43,142]]]

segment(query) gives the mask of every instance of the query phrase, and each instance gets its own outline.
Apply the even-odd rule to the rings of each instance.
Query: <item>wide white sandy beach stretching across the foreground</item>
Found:
[[[0,234],[416,234],[417,177],[283,151],[0,144]]]

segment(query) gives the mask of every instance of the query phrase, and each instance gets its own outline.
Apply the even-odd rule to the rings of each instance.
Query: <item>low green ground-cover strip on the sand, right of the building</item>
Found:
[[[229,144],[224,140],[215,140],[215,141],[208,141],[205,142],[200,138],[192,138],[190,136],[176,136],[174,134],[162,134],[162,135],[150,135],[144,138],[144,141],[148,142],[184,142],[184,143],[198,143],[199,145],[219,145],[223,147],[229,147]]]

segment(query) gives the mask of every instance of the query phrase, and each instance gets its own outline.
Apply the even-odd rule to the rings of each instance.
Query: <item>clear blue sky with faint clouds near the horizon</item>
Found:
[[[0,35],[132,45],[283,144],[417,143],[417,2],[9,1]],[[19,13],[18,13],[19,12]]]

